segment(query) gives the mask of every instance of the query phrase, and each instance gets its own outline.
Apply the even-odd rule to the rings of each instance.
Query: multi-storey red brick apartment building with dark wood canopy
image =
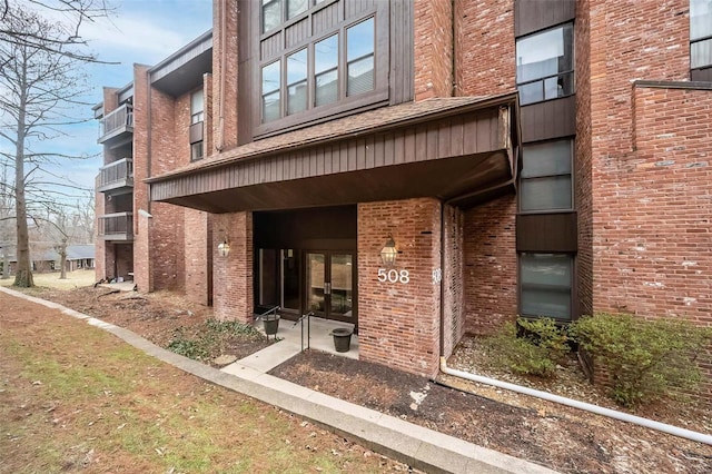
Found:
[[[710,325],[711,106],[710,0],[216,0],[97,108],[132,107],[98,276],[426,375],[517,314]]]

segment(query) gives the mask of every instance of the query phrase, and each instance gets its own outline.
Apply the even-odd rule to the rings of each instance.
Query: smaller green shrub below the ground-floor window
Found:
[[[517,325],[523,332],[517,335]],[[517,374],[553,377],[556,362],[568,352],[565,333],[554,319],[517,319],[506,323],[487,340],[501,366]]]

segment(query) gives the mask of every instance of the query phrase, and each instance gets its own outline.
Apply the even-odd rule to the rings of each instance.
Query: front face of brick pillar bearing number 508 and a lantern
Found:
[[[358,205],[359,357],[432,376],[438,369],[441,204],[421,198]],[[392,234],[395,269],[408,283],[380,283],[380,249]],[[216,278],[217,282],[217,278]]]

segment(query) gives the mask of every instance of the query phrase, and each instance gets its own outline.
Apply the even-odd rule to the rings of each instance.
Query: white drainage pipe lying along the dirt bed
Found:
[[[452,375],[454,377],[465,378],[467,381],[477,382],[479,384],[492,385],[498,388],[504,388],[504,389],[516,392],[520,394],[542,398],[547,402],[554,402],[562,405],[571,406],[573,408],[578,408],[586,412],[595,413],[596,415],[607,416],[610,418],[619,419],[621,422],[632,423],[634,425],[643,426],[651,429],[656,429],[659,432],[668,433],[673,436],[680,436],[680,437],[684,437],[685,440],[712,445],[712,435],[693,432],[691,429],[680,428],[678,426],[669,425],[665,423],[654,422],[652,419],[643,418],[641,416],[630,415],[627,413],[604,408],[590,403],[578,402],[576,399],[550,394],[548,392],[536,391],[534,388],[523,387],[521,385],[511,384],[508,382],[502,382],[495,378],[483,377],[482,375],[469,374],[467,372],[449,368],[447,367],[445,357],[441,357],[441,372],[447,375]]]

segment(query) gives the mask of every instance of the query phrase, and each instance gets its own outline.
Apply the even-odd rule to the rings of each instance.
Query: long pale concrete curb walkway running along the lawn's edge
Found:
[[[0,292],[85,319],[88,324],[120,337],[165,363],[318,423],[373,451],[428,473],[554,473],[538,464],[487,450],[274,377],[264,371],[264,367],[270,364],[256,363],[255,359],[247,361],[249,359],[247,357],[220,371],[158,347],[128,329],[65,308],[56,303],[2,287]],[[285,327],[285,330],[287,329]],[[285,340],[274,346],[283,343]],[[316,347],[313,345],[313,348]]]

